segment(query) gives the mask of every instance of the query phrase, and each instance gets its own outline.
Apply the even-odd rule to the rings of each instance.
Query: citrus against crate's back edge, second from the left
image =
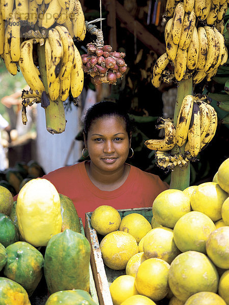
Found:
[[[152,229],[149,221],[138,213],[126,215],[120,224],[119,230],[131,234],[138,243],[147,232]]]

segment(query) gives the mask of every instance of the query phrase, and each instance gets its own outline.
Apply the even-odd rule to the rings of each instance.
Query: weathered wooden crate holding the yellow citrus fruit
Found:
[[[139,213],[151,222],[153,214],[152,208],[142,207],[134,209],[119,209],[121,219],[131,213]],[[85,214],[85,236],[88,238],[91,245],[91,267],[94,276],[94,282],[97,290],[100,305],[113,305],[109,286],[119,276],[125,275],[126,270],[113,270],[104,265],[102,253],[99,248],[100,241],[103,236],[97,235],[95,229],[91,225],[92,212]]]

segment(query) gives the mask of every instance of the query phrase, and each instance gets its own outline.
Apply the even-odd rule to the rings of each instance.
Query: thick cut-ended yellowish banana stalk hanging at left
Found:
[[[40,44],[38,44],[37,47],[41,77],[45,86],[45,90],[48,93],[48,83],[45,67],[45,47],[44,45],[40,46]],[[51,134],[60,134],[65,131],[66,126],[64,104],[60,97],[55,102],[50,100],[50,98],[49,101],[49,106],[45,108],[46,129]]]

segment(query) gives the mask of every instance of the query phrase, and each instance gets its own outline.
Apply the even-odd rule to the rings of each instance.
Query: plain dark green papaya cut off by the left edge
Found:
[[[0,213],[0,242],[4,247],[19,240],[19,232],[9,216]]]

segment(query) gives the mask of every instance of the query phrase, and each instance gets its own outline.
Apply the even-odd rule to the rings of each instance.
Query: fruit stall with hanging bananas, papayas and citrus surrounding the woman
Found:
[[[2,171],[1,305],[229,305],[228,4],[138,2],[0,0],[23,125],[36,105],[62,134],[66,105],[93,89],[136,124],[130,164],[169,185],[149,207],[107,200],[83,226],[38,162]]]

